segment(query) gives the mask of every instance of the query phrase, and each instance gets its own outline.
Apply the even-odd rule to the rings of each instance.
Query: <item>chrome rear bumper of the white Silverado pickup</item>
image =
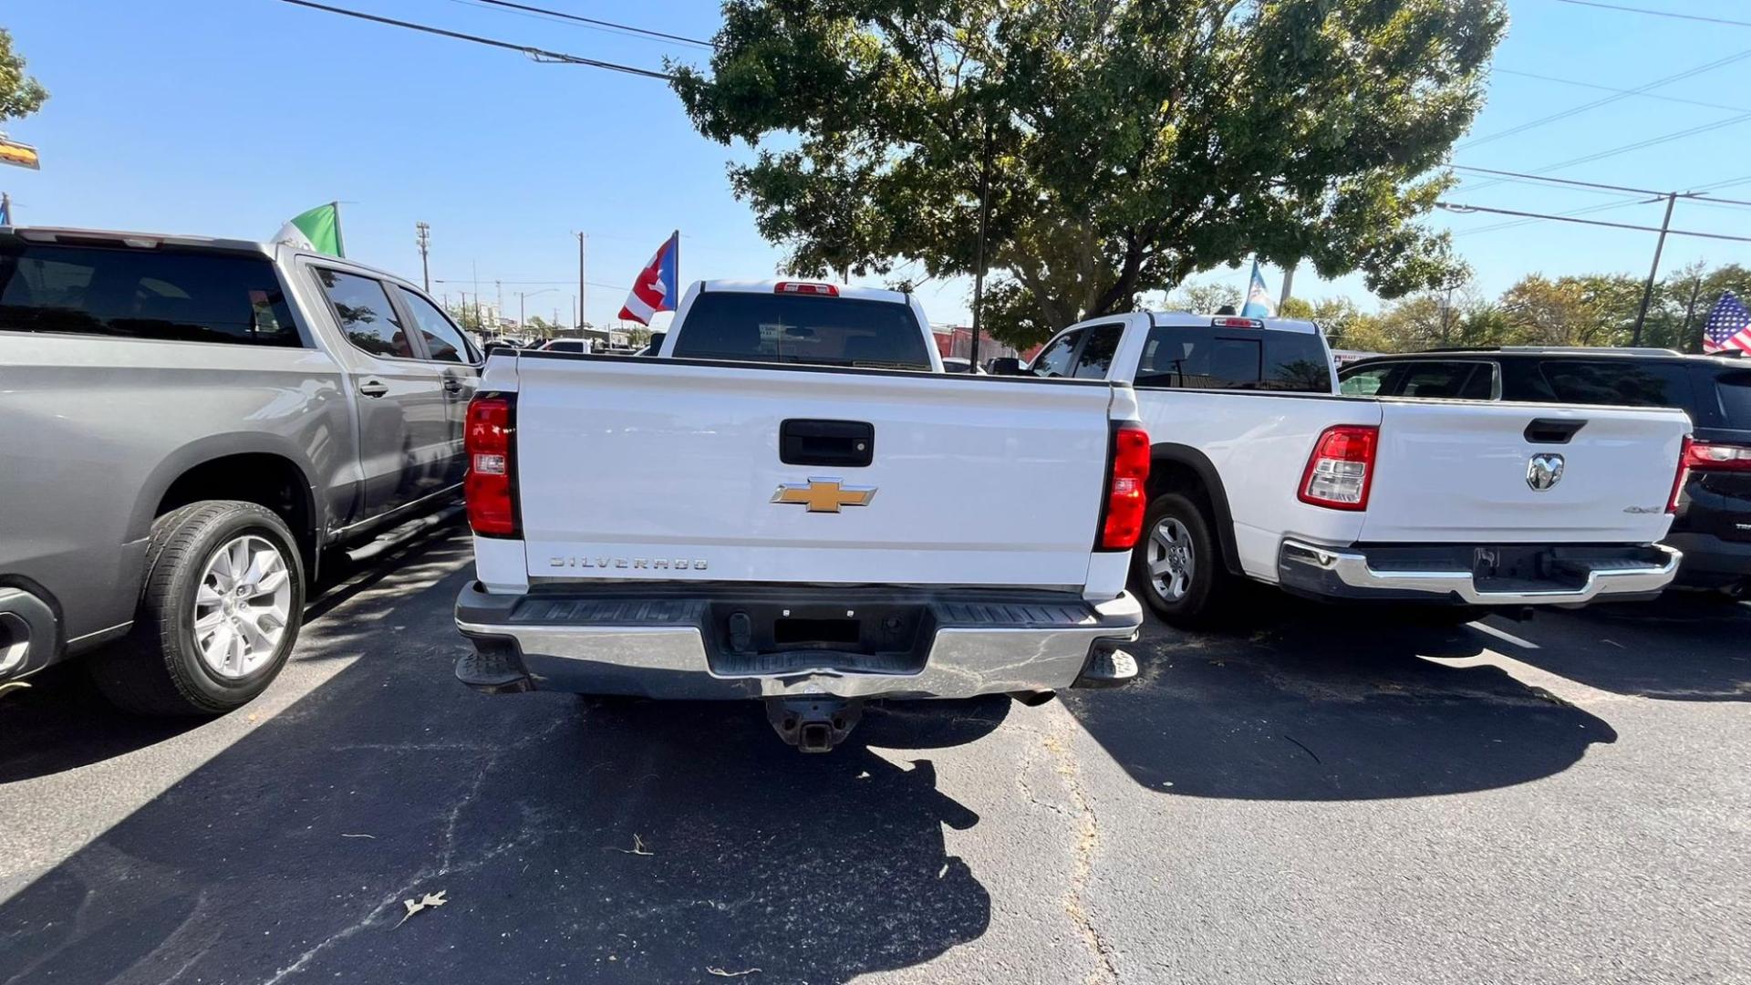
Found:
[[[471,584],[457,598],[457,629],[475,652],[457,661],[457,678],[487,692],[853,699],[1110,687],[1136,673],[1129,659],[1112,659],[1143,620],[1129,594],[1093,605],[1063,596],[1042,601],[1038,594],[895,592],[881,596],[886,605],[919,606],[916,648],[860,654],[730,650],[718,613],[735,608],[725,598],[744,592],[492,596]],[[798,589],[797,606],[825,608],[833,599],[832,608],[849,613],[872,598],[868,591]],[[772,603],[763,598],[760,605]]]

